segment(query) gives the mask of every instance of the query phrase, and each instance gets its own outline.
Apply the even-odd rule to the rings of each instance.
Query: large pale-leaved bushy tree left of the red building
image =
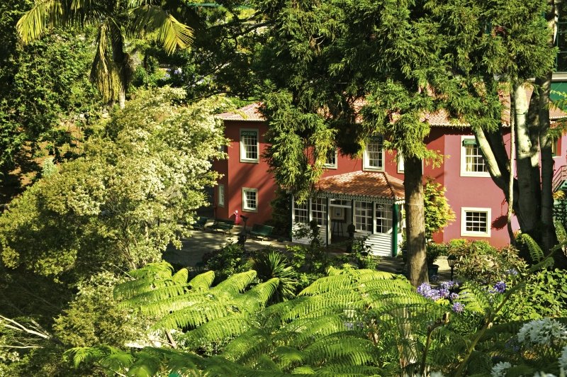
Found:
[[[140,91],[84,145],[0,217],[6,266],[45,276],[90,276],[157,261],[179,244],[218,174],[210,160],[225,144],[215,99],[179,106],[179,90]],[[76,278],[73,277],[73,278]]]

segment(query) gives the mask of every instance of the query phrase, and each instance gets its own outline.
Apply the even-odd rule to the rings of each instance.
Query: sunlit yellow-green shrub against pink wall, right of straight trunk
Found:
[[[449,206],[442,184],[427,178],[423,186],[423,206],[425,213],[425,237],[431,238],[433,233],[443,230],[455,220],[455,213]]]

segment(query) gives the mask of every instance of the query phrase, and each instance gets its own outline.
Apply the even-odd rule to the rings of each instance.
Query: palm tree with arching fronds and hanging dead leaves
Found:
[[[96,55],[91,82],[103,99],[125,105],[130,81],[126,37],[145,38],[162,44],[167,53],[191,43],[193,30],[179,22],[159,0],[36,0],[16,25],[24,45],[41,38],[55,27],[95,26]]]

